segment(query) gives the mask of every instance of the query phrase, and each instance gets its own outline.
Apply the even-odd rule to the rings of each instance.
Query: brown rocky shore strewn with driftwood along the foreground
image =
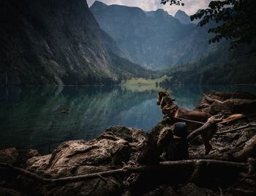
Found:
[[[252,115],[256,113],[256,96],[245,92],[211,91],[202,97],[197,110],[212,115],[221,112],[227,116],[233,113],[251,116],[219,125],[211,140],[213,150],[206,156],[201,143],[190,144],[191,162],[206,161],[198,167],[187,167],[188,162],[180,161],[173,162],[174,172],[169,166],[160,170],[152,167],[141,173],[122,172],[86,181],[42,184],[17,170],[1,166],[0,195],[256,195],[256,115]],[[110,127],[94,140],[67,141],[44,156],[32,149],[4,149],[0,151],[0,162],[43,178],[140,167],[136,158],[146,136],[142,129]],[[217,161],[224,162],[223,167]],[[238,166],[229,169],[229,162]],[[178,164],[181,166],[177,167]],[[191,173],[192,170],[198,172]]]

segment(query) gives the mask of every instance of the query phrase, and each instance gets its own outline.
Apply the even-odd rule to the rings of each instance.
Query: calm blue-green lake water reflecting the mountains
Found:
[[[160,90],[139,86],[0,88],[0,148],[36,148],[48,154],[65,140],[91,140],[114,125],[147,131],[162,118],[156,105]],[[178,105],[193,109],[206,91],[256,93],[256,86],[169,86],[168,90]]]

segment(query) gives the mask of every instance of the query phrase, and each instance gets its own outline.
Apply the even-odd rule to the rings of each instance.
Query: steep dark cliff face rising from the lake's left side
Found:
[[[85,0],[0,1],[0,84],[113,83]]]

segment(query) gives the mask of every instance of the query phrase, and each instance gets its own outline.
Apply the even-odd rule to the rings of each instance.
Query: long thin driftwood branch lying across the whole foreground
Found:
[[[192,180],[200,172],[200,167],[204,165],[207,170],[216,170],[217,168],[223,169],[227,168],[227,170],[234,170],[236,172],[241,172],[243,170],[247,170],[247,163],[239,163],[239,162],[227,162],[227,161],[219,161],[214,159],[192,159],[192,160],[181,160],[181,161],[173,161],[173,162],[161,162],[158,165],[139,165],[138,167],[129,167],[124,166],[121,169],[116,170],[108,170],[102,171],[99,173],[91,173],[82,176],[70,176],[64,178],[44,178],[42,176],[38,176],[35,173],[31,173],[29,170],[23,170],[19,167],[15,167],[6,163],[0,162],[0,167],[12,170],[17,172],[20,175],[26,176],[27,178],[31,178],[34,181],[37,181],[40,184],[67,184],[71,182],[77,181],[88,181],[94,178],[101,178],[103,181],[106,181],[104,177],[116,176],[116,175],[124,175],[127,173],[144,173],[144,172],[152,172],[152,171],[168,171],[174,172],[179,170],[184,170],[187,168],[194,169],[195,172],[192,172],[192,176],[189,178],[189,181]],[[189,176],[188,176],[189,177]]]

